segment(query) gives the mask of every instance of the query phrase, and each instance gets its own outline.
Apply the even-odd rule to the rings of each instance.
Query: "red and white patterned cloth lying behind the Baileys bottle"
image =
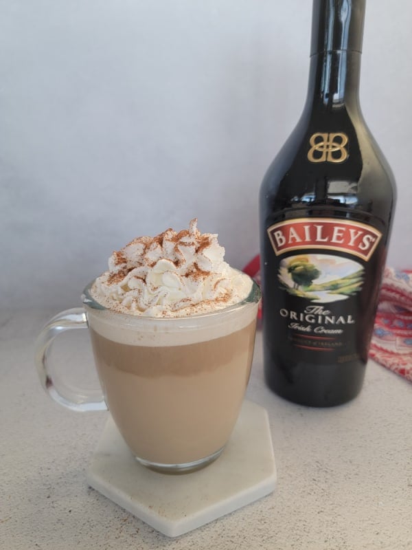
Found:
[[[259,256],[244,272],[260,284]],[[412,382],[412,270],[385,269],[369,357]]]

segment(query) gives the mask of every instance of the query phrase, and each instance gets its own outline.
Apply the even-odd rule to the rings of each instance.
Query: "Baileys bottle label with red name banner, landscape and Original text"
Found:
[[[361,296],[382,233],[357,221],[308,217],[275,223],[268,236],[277,256],[273,314],[283,341],[317,353],[320,363],[330,362],[330,353],[337,362],[357,358]]]

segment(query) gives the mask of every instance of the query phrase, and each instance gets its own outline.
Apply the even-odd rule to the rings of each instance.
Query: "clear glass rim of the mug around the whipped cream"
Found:
[[[236,270],[236,271],[240,272],[239,270]],[[244,305],[258,304],[260,302],[260,299],[262,298],[262,291],[261,291],[260,286],[258,285],[258,283],[256,283],[256,281],[253,278],[251,278],[249,275],[248,275],[248,277],[250,278],[250,280],[252,282],[252,286],[251,286],[249,294],[245,298],[243,298],[242,300],[239,300],[239,302],[236,302],[235,304],[229,305],[227,307],[221,307],[219,309],[214,309],[214,311],[206,311],[205,313],[198,313],[198,314],[194,314],[194,315],[183,315],[183,316],[173,316],[173,317],[168,317],[168,316],[155,317],[155,316],[139,315],[139,314],[131,314],[131,313],[129,314],[129,313],[126,313],[124,311],[117,311],[116,309],[110,309],[109,307],[106,307],[106,306],[100,304],[90,294],[90,289],[93,286],[93,284],[95,283],[96,279],[93,279],[93,281],[91,281],[84,288],[84,290],[82,292],[82,303],[83,303],[83,305],[85,305],[87,307],[90,307],[91,309],[95,309],[95,310],[98,310],[98,311],[107,311],[108,313],[111,313],[111,314],[116,314],[118,316],[124,316],[124,318],[128,318],[130,320],[131,319],[135,319],[135,320],[139,319],[139,320],[147,320],[147,321],[151,320],[151,321],[156,321],[156,322],[171,322],[171,321],[176,321],[176,320],[183,321],[185,319],[191,319],[191,320],[197,319],[197,318],[202,318],[203,319],[203,318],[218,316],[218,315],[225,314],[225,313],[227,314],[230,311],[240,309],[240,307],[243,307]]]

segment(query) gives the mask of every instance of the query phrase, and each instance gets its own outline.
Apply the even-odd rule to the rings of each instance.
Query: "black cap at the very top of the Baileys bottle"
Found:
[[[365,0],[313,0],[310,55],[362,52]]]

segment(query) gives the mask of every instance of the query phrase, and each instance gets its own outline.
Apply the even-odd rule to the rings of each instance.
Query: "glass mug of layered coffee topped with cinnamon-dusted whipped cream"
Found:
[[[49,395],[73,410],[108,408],[137,461],[161,472],[214,461],[242,406],[260,289],[224,254],[196,220],[134,239],[84,289],[83,307],[50,320],[36,343]],[[68,399],[48,352],[58,333],[79,327],[89,329],[101,395]]]

